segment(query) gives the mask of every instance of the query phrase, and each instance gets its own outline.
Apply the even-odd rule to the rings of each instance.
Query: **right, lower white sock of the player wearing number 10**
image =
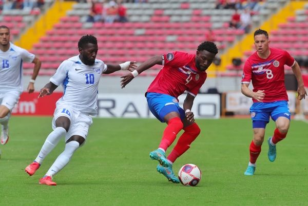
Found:
[[[66,143],[64,151],[56,158],[50,169],[47,171],[47,176],[53,176],[60,172],[69,162],[74,152],[79,148],[78,141],[70,141]]]

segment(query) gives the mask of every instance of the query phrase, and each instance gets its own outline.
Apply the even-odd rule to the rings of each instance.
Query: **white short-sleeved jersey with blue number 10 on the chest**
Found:
[[[99,59],[95,59],[93,66],[83,64],[79,55],[63,61],[50,78],[53,84],[63,86],[64,95],[56,105],[67,104],[83,113],[97,114],[99,81],[106,70],[107,65]]]

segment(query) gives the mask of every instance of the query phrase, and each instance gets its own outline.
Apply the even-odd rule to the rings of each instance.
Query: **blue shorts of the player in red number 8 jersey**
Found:
[[[288,102],[285,100],[274,102],[255,102],[250,108],[253,120],[253,128],[265,128],[269,122],[269,117],[274,121],[278,117],[286,117],[291,119],[291,112]]]

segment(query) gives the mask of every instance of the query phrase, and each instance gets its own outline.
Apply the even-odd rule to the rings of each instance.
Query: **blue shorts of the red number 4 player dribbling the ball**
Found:
[[[165,122],[164,117],[170,112],[177,112],[181,119],[185,118],[184,110],[179,106],[177,98],[173,96],[148,92],[146,100],[151,113],[161,122]]]

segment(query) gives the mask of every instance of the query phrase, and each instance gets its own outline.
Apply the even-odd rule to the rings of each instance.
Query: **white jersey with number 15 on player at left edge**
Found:
[[[23,61],[32,62],[35,55],[10,43],[8,51],[0,50],[0,92],[23,91]]]

